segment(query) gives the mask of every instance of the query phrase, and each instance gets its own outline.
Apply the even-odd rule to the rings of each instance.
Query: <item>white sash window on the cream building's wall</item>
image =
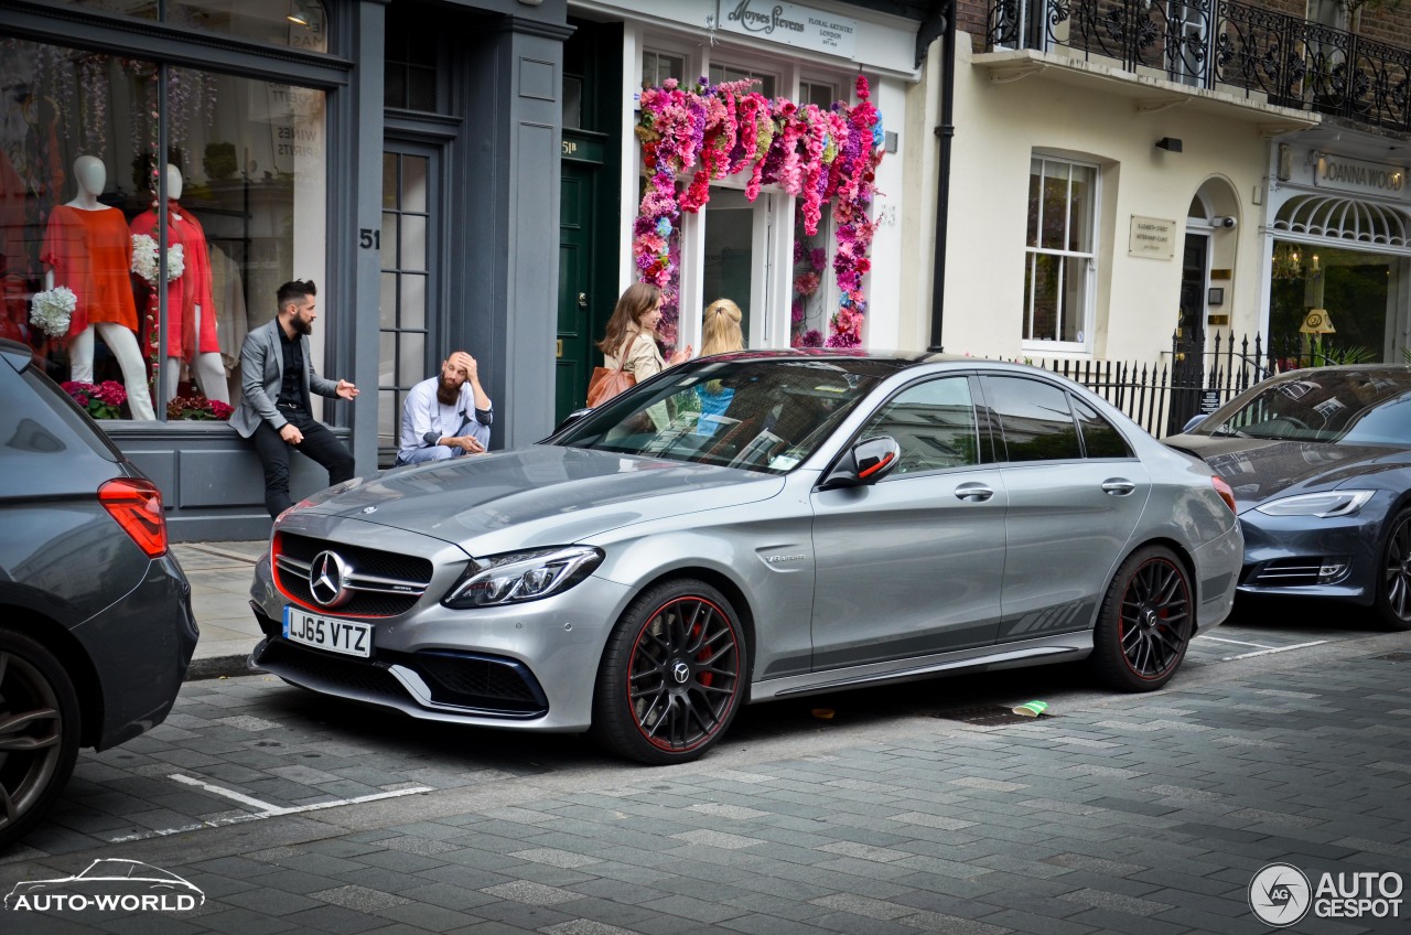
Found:
[[[1054,157],[1034,157],[1029,175],[1029,229],[1024,243],[1026,342],[1088,343],[1092,282],[1096,274],[1094,216],[1098,168]]]

